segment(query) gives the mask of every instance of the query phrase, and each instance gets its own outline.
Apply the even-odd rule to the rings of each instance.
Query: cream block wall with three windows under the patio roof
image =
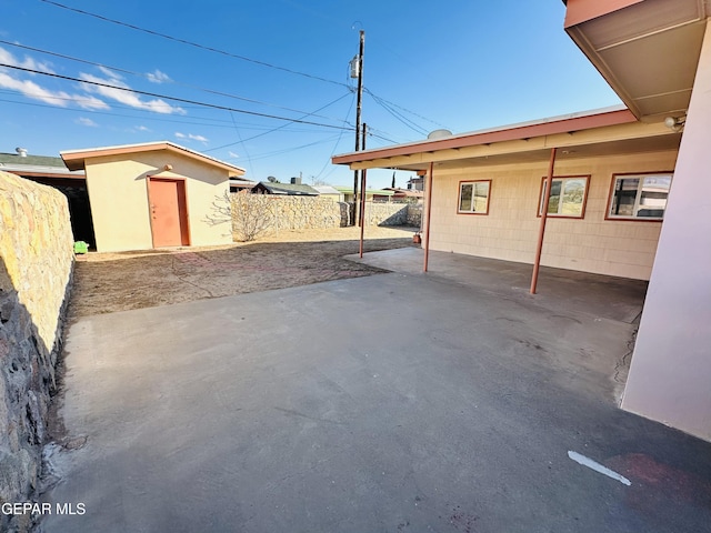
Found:
[[[648,280],[661,222],[604,220],[612,174],[670,171],[675,152],[614,155],[555,163],[555,175],[590,174],[584,219],[549,218],[541,264]],[[548,163],[438,171],[432,193],[432,250],[532,263]],[[458,214],[459,182],[491,180],[488,215]],[[673,187],[673,185],[672,185]]]

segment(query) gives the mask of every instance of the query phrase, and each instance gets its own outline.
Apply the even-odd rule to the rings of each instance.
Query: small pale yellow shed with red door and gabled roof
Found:
[[[216,202],[244,174],[239,167],[169,141],[60,154],[87,174],[98,251],[232,242]]]

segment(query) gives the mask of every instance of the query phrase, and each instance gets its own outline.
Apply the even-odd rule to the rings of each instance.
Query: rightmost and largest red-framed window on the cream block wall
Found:
[[[671,172],[612,177],[608,219],[662,220]]]

